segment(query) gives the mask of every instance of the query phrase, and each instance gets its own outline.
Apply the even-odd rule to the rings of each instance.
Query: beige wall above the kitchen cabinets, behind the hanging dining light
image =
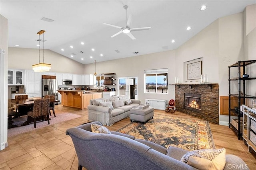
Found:
[[[42,54],[42,52],[41,52]],[[9,47],[8,68],[32,70],[32,65],[39,63],[38,49]],[[40,56],[40,63],[43,58]],[[84,64],[64,57],[51,50],[44,50],[44,63],[52,64],[50,72],[84,74]]]

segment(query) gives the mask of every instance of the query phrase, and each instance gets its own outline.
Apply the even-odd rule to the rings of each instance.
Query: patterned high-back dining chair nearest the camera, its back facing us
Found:
[[[28,116],[34,118],[34,128],[36,128],[36,118],[37,117],[42,117],[42,121],[44,121],[44,116],[46,116],[48,124],[50,124],[49,105],[50,105],[49,98],[34,100],[33,110],[28,112]]]

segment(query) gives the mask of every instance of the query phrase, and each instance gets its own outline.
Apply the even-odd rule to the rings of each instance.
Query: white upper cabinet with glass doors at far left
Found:
[[[8,85],[24,85],[24,70],[8,70]]]

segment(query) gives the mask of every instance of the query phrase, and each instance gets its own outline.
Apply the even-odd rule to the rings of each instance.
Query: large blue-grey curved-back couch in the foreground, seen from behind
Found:
[[[118,132],[92,133],[91,122],[70,128],[70,135],[78,156],[78,170],[194,170],[180,159],[187,150],[176,147],[168,149],[130,135]],[[235,155],[222,155],[224,170],[248,169],[245,162]],[[207,168],[212,169],[212,168]]]

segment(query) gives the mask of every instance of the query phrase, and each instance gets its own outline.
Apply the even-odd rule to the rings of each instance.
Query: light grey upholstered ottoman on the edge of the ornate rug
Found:
[[[140,121],[145,123],[150,118],[154,117],[154,107],[147,107],[145,109],[130,109],[130,120]]]

